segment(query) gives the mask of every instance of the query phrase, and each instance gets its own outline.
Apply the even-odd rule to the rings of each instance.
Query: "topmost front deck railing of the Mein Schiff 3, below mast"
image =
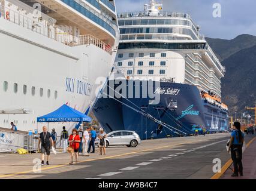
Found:
[[[159,14],[146,14],[144,11],[135,11],[135,12],[127,12],[127,13],[119,13],[118,18],[129,18],[129,17],[176,17],[183,19],[191,19],[189,14],[185,13],[176,13],[176,12],[167,12],[167,11],[159,11]]]

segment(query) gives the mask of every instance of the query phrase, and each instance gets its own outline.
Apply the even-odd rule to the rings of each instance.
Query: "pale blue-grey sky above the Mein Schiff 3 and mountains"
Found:
[[[118,13],[143,11],[149,0],[116,0]],[[200,33],[210,38],[233,39],[238,35],[256,36],[255,0],[158,0],[163,11],[188,13],[201,27]],[[213,17],[213,4],[221,5],[221,16]],[[218,7],[219,8],[219,7]],[[216,13],[216,11],[215,11]],[[220,12],[217,12],[220,13]]]

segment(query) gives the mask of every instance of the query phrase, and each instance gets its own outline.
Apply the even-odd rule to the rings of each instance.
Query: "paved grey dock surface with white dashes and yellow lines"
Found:
[[[246,143],[254,137],[246,135]],[[144,140],[135,148],[107,147],[106,156],[99,155],[99,149],[96,147],[96,153],[91,153],[88,157],[79,156],[77,165],[68,165],[68,153],[51,153],[50,165],[41,167],[41,172],[37,171],[38,166],[33,163],[40,161],[40,153],[2,154],[0,178],[209,179],[215,175],[213,159],[220,159],[222,166],[230,159],[230,154],[226,150],[229,138],[230,134],[221,133],[205,137],[200,135]],[[253,141],[251,145],[255,144],[256,141]],[[255,153],[255,150],[249,149],[250,147],[248,153]]]

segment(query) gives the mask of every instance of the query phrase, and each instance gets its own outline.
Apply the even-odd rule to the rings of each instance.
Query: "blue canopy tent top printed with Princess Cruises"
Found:
[[[37,118],[37,122],[91,122],[92,119],[73,109],[66,104],[63,104],[59,109],[52,113]]]

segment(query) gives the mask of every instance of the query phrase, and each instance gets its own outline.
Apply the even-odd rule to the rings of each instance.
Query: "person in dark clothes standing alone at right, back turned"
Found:
[[[234,165],[234,173],[231,175],[231,177],[238,177],[238,172],[240,176],[243,175],[242,147],[245,134],[243,134],[240,130],[240,122],[234,122],[233,127],[234,130],[231,132],[228,152],[231,152],[231,158]]]

